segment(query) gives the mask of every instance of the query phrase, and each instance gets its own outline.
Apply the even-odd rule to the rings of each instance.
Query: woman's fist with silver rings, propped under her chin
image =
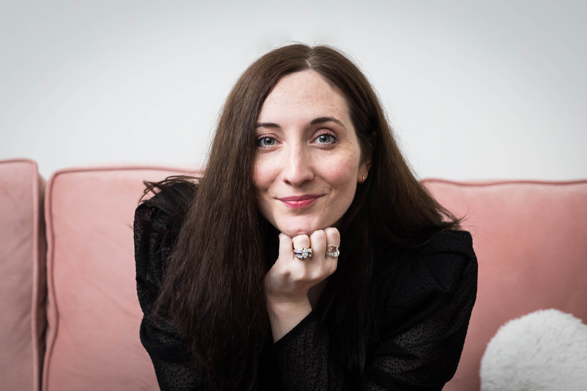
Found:
[[[336,228],[294,238],[279,234],[279,256],[265,275],[268,306],[305,304],[308,291],[336,270],[338,257],[326,256],[326,244],[340,245]],[[296,258],[294,248],[312,248],[312,257]]]

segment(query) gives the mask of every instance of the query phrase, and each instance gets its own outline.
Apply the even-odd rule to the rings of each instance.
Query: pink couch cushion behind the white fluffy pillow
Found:
[[[478,390],[485,346],[510,319],[555,308],[587,320],[587,180],[423,181],[473,235],[477,302],[444,390]]]

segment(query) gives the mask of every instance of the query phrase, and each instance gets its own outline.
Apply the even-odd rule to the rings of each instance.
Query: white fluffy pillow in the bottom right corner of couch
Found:
[[[481,360],[481,391],[587,390],[587,325],[541,309],[501,326]]]

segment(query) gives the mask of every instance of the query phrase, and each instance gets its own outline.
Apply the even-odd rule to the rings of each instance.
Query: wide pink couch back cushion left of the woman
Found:
[[[48,333],[43,391],[158,390],[139,339],[133,217],[143,180],[189,168],[60,170],[46,191]]]

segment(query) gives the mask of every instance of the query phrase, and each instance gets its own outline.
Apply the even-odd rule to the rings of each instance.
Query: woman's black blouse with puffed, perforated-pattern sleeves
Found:
[[[150,314],[174,244],[164,232],[177,222],[149,202],[134,215],[139,303]],[[177,227],[177,225],[176,225]],[[467,231],[443,231],[393,268],[379,262],[380,341],[367,352],[360,390],[441,390],[453,377],[477,294],[477,258]],[[389,263],[389,262],[387,262]],[[394,281],[389,284],[389,281]],[[382,288],[383,287],[383,288]],[[190,366],[187,344],[168,321],[140,326],[162,391],[205,390]],[[329,330],[312,311],[259,356],[259,389],[341,390],[345,372],[329,354]]]

